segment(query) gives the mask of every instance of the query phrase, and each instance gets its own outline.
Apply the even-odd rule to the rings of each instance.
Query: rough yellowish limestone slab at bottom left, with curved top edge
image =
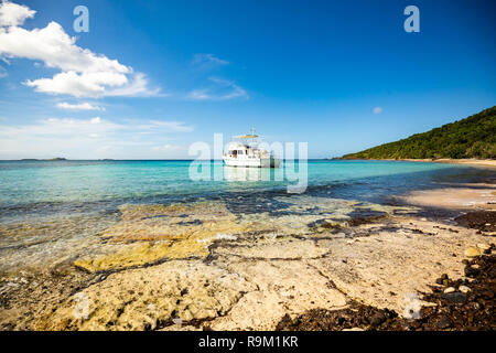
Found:
[[[110,275],[36,320],[36,330],[154,330],[225,314],[256,286],[197,260]],[[87,307],[85,307],[87,303]],[[86,311],[85,311],[86,310]],[[87,314],[87,317],[85,315]],[[86,317],[86,318],[85,318]]]

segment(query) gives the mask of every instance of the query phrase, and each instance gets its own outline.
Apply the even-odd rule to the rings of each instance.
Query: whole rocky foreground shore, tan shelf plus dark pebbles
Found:
[[[0,325],[494,329],[490,207],[440,218],[418,206],[305,195],[271,203],[282,206],[123,205],[98,253],[3,274]]]

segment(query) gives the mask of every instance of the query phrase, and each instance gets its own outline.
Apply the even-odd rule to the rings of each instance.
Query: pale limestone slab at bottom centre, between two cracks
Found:
[[[236,261],[228,269],[256,284],[258,290],[244,296],[228,315],[208,323],[213,330],[274,330],[285,313],[346,306],[346,297],[301,260]]]

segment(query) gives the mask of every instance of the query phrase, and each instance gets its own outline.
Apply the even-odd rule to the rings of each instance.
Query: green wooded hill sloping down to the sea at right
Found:
[[[385,143],[343,159],[496,159],[496,106],[428,132]]]

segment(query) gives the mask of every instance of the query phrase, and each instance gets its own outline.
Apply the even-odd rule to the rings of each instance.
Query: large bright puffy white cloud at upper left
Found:
[[[3,1],[0,13],[12,13],[10,8],[25,7]],[[29,8],[24,12],[17,10],[18,14],[9,14],[10,20],[0,26],[0,57],[41,61],[47,67],[62,71],[52,78],[28,79],[24,83],[28,86],[42,93],[75,97],[151,96],[159,93],[159,89],[150,89],[145,76],[133,73],[132,67],[77,46],[76,38],[65,33],[56,22],[52,21],[43,29],[19,26],[25,18],[34,15],[34,11],[26,14],[25,10],[31,11]]]

